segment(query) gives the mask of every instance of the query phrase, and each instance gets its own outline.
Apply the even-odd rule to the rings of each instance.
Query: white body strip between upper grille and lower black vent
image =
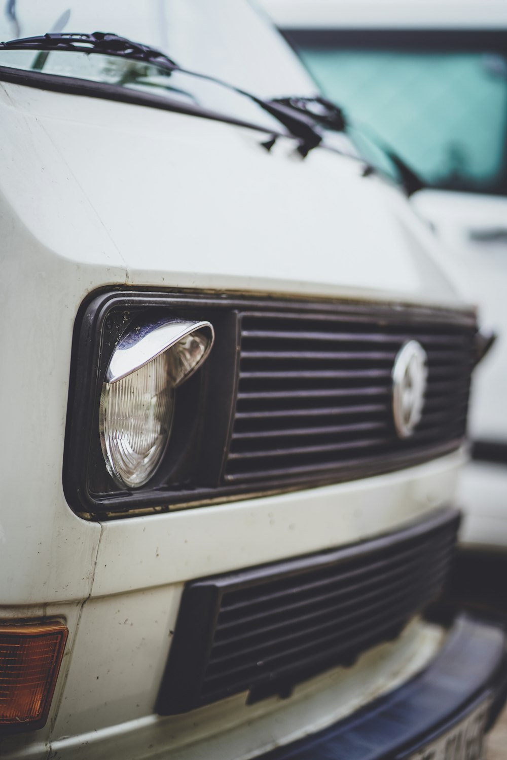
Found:
[[[104,523],[91,596],[179,583],[388,533],[448,504],[463,461],[456,452],[337,486]]]

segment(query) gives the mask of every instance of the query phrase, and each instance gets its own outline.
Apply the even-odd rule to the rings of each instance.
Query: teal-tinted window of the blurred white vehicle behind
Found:
[[[507,195],[507,33],[294,30],[322,92],[426,185]]]

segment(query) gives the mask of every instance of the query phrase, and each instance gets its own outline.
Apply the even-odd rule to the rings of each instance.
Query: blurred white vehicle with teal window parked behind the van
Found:
[[[507,546],[507,4],[264,0],[325,97],[395,148],[442,268],[498,334],[474,376],[461,476],[470,548]]]

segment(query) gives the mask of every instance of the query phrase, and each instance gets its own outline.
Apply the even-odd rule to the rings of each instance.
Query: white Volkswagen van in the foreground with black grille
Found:
[[[505,632],[424,616],[481,352],[433,234],[240,0],[0,39],[0,757],[480,760]]]

